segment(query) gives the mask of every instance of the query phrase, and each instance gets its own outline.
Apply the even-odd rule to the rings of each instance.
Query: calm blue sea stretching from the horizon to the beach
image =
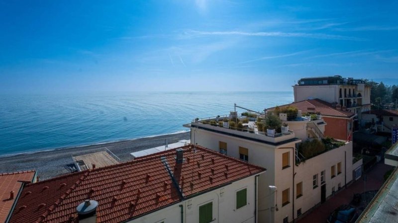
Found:
[[[0,95],[0,155],[183,132],[234,103],[262,111],[293,100],[293,92]]]

